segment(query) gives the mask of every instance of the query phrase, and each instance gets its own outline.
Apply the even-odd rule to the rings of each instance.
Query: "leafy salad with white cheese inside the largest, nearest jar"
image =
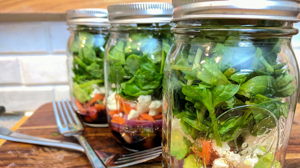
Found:
[[[287,97],[296,91],[287,63],[277,59],[283,43],[204,35],[175,42],[164,76],[172,93],[164,94],[173,100],[171,156],[183,167],[272,164],[276,121],[288,117]]]

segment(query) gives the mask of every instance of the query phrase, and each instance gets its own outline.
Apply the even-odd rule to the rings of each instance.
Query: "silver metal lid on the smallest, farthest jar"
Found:
[[[109,26],[108,12],[100,8],[71,9],[67,11],[67,25]]]

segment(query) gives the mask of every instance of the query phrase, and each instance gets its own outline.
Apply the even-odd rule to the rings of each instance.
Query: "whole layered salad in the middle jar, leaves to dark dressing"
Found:
[[[108,122],[114,138],[127,149],[161,145],[163,68],[173,42],[170,28],[138,25],[135,31],[116,33],[108,44]]]

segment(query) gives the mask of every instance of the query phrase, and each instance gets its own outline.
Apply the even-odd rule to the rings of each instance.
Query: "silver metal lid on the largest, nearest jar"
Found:
[[[300,0],[172,0],[171,21],[264,19],[298,22]]]

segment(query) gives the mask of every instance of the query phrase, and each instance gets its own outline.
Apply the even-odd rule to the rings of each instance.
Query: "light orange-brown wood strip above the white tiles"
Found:
[[[117,3],[171,0],[0,0],[0,13],[65,13],[76,8],[107,8]]]

